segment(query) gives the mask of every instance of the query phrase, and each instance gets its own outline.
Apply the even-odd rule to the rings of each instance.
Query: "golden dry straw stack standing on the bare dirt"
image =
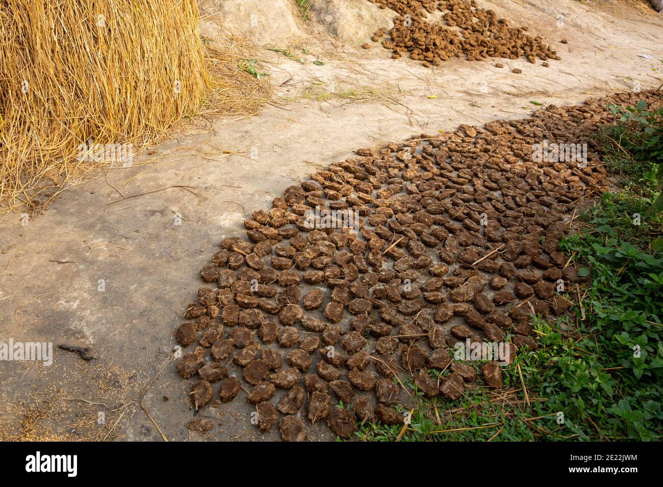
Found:
[[[0,0],[0,203],[44,206],[100,161],[122,166],[82,147],[144,144],[257,102],[198,21],[195,0]]]

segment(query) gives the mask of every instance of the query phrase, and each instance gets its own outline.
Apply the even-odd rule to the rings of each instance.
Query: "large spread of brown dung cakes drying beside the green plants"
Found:
[[[558,244],[579,201],[608,186],[591,139],[615,120],[608,103],[640,98],[660,95],[360,149],[286,189],[245,221],[248,241],[224,239],[200,271],[210,286],[176,333],[195,348],[176,366],[198,376],[192,406],[245,389],[261,431],[278,423],[283,439],[302,440],[308,418],[349,438],[361,421],[402,424],[405,384],[446,400],[466,384],[501,388],[497,361],[456,361],[454,344],[508,343],[512,360],[537,347],[533,314],[568,310],[555,283],[579,278]],[[543,140],[589,144],[587,165],[534,162]],[[316,207],[356,211],[361,227],[312,229],[304,217]]]

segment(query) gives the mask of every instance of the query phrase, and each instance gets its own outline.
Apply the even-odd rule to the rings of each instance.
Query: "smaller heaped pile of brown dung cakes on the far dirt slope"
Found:
[[[509,27],[505,19],[499,19],[493,10],[480,9],[474,0],[369,1],[398,13],[389,31],[391,39],[382,43],[393,51],[394,59],[409,52],[410,58],[423,61],[427,67],[440,66],[443,61],[463,55],[469,61],[520,56],[531,63],[536,62],[536,58],[544,62],[560,59],[540,36],[526,34],[526,27]],[[436,10],[444,12],[444,24],[426,21],[428,13]],[[386,28],[377,30],[373,41],[380,40],[386,32]]]

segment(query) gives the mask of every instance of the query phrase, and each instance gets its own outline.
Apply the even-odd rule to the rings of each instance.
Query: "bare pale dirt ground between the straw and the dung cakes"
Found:
[[[204,15],[219,11],[209,3]],[[261,113],[176,134],[131,168],[72,186],[34,219],[7,215],[0,223],[1,340],[84,345],[95,359],[56,349],[51,366],[2,362],[0,435],[276,440],[275,431],[261,435],[251,425],[253,406],[242,400],[215,410],[221,426],[210,433],[188,431],[188,386],[170,361],[172,331],[200,286],[198,270],[221,239],[243,233],[247,212],[269,209],[284,188],[359,147],[525,117],[536,108],[532,101],[571,104],[663,83],[663,15],[623,1],[478,3],[543,36],[562,60],[545,68],[524,58],[454,58],[424,68],[391,60],[377,44],[361,49],[369,39],[351,42],[347,30],[343,41],[320,27],[307,36],[290,19],[284,36],[255,38],[304,61],[261,50],[258,69],[269,72],[276,90]],[[279,18],[257,21],[260,30]],[[214,25],[203,32],[214,35]],[[316,59],[324,65],[312,64]],[[97,421],[99,411],[105,422]],[[308,439],[331,439],[325,427],[310,427]]]

